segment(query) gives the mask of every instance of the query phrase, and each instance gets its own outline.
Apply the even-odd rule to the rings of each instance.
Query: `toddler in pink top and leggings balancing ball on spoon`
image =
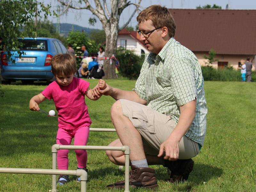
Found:
[[[52,73],[56,81],[49,84],[43,92],[35,95],[29,101],[32,111],[39,111],[38,104],[46,99],[53,99],[58,111],[58,132],[56,143],[70,145],[74,138],[74,145],[86,145],[89,136],[89,126],[92,123],[84,101],[84,95],[91,100],[100,98],[92,95],[89,82],[74,77],[76,73],[76,58],[72,54],[57,54],[52,58]],[[99,87],[102,86],[98,85]],[[58,169],[68,169],[68,149],[60,149],[57,153]],[[75,150],[77,168],[86,172],[86,150]],[[80,178],[77,180],[79,181]],[[68,175],[60,175],[58,183],[65,184]]]

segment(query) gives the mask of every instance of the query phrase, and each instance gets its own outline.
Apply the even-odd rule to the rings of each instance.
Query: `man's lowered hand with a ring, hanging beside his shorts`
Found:
[[[164,155],[164,159],[169,161],[175,161],[179,158],[179,143],[180,141],[168,138],[160,145],[158,157]]]

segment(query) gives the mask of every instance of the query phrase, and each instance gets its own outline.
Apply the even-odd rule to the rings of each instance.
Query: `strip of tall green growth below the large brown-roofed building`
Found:
[[[224,69],[201,66],[205,81],[241,81],[240,70],[228,67]],[[252,71],[252,81],[256,81],[256,71]]]

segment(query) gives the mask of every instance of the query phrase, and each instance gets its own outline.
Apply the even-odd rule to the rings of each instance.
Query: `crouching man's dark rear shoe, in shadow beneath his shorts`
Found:
[[[167,172],[170,175],[167,181],[179,183],[188,180],[188,175],[193,170],[193,166],[194,161],[192,159],[164,160],[164,167],[167,167]]]

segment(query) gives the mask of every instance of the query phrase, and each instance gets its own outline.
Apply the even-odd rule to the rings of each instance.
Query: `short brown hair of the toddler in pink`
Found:
[[[54,76],[69,76],[76,73],[76,58],[73,54],[57,54],[52,58],[52,73]]]

